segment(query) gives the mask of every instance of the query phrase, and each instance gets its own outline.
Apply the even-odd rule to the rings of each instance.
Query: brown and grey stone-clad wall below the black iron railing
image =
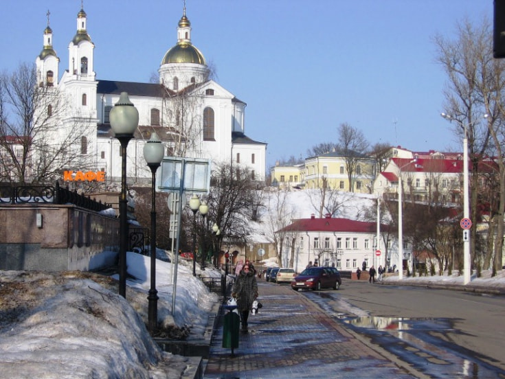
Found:
[[[119,220],[74,205],[0,207],[0,269],[89,271],[117,258]]]

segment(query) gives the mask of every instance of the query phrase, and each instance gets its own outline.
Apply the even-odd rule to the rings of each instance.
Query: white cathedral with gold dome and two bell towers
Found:
[[[186,6],[177,26],[177,43],[161,60],[159,83],[97,79],[95,45],[84,9],[78,12],[76,35],[68,48],[68,68],[58,80],[60,59],[53,48],[48,13],[43,50],[36,58],[38,83],[57,88],[69,102],[58,122],[63,128],[82,130],[76,151],[87,156],[88,169],[105,172],[107,181],[119,180],[120,143],[113,137],[109,113],[120,93],[127,92],[139,111],[139,127],[127,150],[128,184],[150,178],[143,147],[153,131],[164,142],[166,156],[240,165],[249,170],[251,179],[265,181],[267,143],[245,135],[245,102],[211,79],[203,54],[192,44]]]

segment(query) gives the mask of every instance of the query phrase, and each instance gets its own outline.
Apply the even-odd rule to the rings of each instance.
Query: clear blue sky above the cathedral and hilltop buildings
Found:
[[[80,0],[3,0],[0,71],[34,62],[51,12],[60,76]],[[182,0],[84,0],[98,79],[148,82],[177,42]],[[435,34],[464,17],[493,19],[493,0],[186,0],[192,42],[217,81],[247,103],[246,134],[267,165],[322,142],[347,122],[370,143],[462,150],[440,117],[447,80]]]

